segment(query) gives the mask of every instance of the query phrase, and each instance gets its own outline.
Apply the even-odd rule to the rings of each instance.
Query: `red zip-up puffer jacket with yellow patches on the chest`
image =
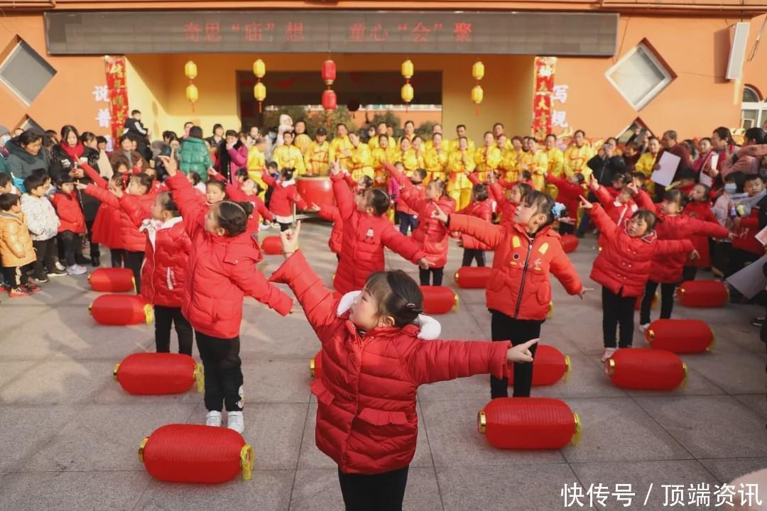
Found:
[[[551,225],[532,239],[520,224],[499,226],[466,215],[450,215],[449,228],[495,248],[486,290],[490,310],[514,319],[545,319],[551,302],[550,273],[569,294],[583,289],[578,272],[562,249],[561,237]]]

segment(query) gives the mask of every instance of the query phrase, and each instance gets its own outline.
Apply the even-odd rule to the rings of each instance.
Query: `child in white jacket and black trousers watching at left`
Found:
[[[66,271],[56,267],[56,234],[58,233],[58,215],[51,201],[45,195],[50,188],[51,178],[47,175],[30,175],[24,180],[24,189],[27,191],[21,195],[21,211],[24,211],[25,221],[32,244],[35,246],[35,280],[38,283],[46,283],[49,277],[66,275]]]

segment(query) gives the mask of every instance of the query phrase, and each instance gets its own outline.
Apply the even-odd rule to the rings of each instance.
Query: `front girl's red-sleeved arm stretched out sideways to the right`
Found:
[[[490,373],[503,378],[511,362],[532,362],[532,339],[518,346],[489,341],[423,341],[416,339],[410,352],[403,355],[417,385],[445,382],[455,378]]]

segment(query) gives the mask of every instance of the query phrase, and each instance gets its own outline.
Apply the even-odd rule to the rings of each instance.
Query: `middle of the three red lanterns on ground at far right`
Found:
[[[657,319],[644,339],[650,348],[673,353],[702,353],[714,347],[714,332],[700,319]]]

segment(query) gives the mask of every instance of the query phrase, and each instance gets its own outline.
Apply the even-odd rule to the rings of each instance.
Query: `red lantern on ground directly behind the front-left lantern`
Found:
[[[181,394],[205,383],[202,365],[181,353],[133,353],[114,366],[114,381],[129,394]]]

